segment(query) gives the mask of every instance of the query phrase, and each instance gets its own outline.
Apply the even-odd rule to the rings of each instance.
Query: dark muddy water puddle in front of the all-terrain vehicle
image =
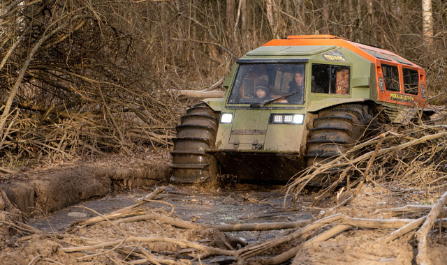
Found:
[[[166,187],[167,192],[157,199],[175,206],[175,215],[182,220],[207,224],[231,224],[254,222],[291,222],[308,219],[318,212],[305,209],[307,198],[303,197],[299,211],[284,212],[282,203],[284,195],[278,187],[265,188],[257,185],[238,185],[233,190],[204,192],[195,188]],[[96,216],[82,206],[98,213],[110,213],[130,206],[140,197],[149,194],[151,190],[130,190],[108,195],[101,199],[94,199],[75,206],[57,211],[44,218],[31,219],[29,225],[44,232],[64,232],[72,222]],[[166,204],[150,202],[154,208],[170,211]],[[270,239],[281,231],[267,232],[234,232],[232,236],[239,236],[249,243]]]

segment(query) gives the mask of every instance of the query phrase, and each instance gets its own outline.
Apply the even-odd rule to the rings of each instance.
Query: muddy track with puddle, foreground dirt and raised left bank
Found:
[[[0,215],[0,221],[3,221],[3,224],[26,222],[28,225],[37,228],[33,230],[34,228],[28,227],[24,232],[20,229],[17,231],[17,229],[8,228],[8,226],[1,227],[0,232],[3,233],[0,234],[3,242],[0,245],[1,264],[32,264],[33,260],[35,264],[54,264],[54,262],[61,262],[62,264],[108,264],[114,257],[98,256],[82,261],[80,257],[92,252],[69,253],[62,249],[70,248],[73,245],[92,245],[96,241],[120,241],[123,239],[123,233],[126,236],[146,238],[162,236],[226,249],[228,247],[228,245],[225,245],[226,239],[233,238],[248,245],[256,245],[261,241],[277,239],[292,232],[291,229],[262,232],[219,232],[216,229],[182,229],[159,220],[140,220],[120,223],[119,229],[108,222],[101,222],[87,227],[77,227],[66,233],[66,229],[75,220],[95,217],[97,213],[94,213],[94,211],[100,214],[117,211],[132,205],[137,199],[152,192],[154,185],[157,183],[160,185],[161,180],[166,179],[166,176],[161,174],[163,172],[161,169],[169,170],[166,161],[168,160],[159,163],[163,167],[156,167],[156,163],[149,164],[142,162],[142,160],[140,162],[126,161],[121,164],[115,161],[107,166],[97,164],[89,167],[88,170],[85,165],[82,167],[65,167],[64,169],[48,169],[41,172],[26,172],[23,176],[3,179],[2,185],[21,183],[15,186],[17,190],[27,190],[27,187],[29,190],[34,190],[30,192],[34,198],[34,207],[41,207],[38,212],[45,214],[34,215],[34,218],[29,218],[30,215],[20,215],[17,209],[12,209],[13,207],[10,204],[0,204],[0,206],[3,205],[3,208],[0,207],[0,213],[3,213],[3,215]],[[160,179],[156,180],[154,176],[160,176]],[[57,181],[62,181],[62,183],[58,184]],[[38,193],[35,189],[41,186],[36,183],[40,185],[45,183],[43,187],[52,187],[57,192]],[[163,185],[166,185],[166,183]],[[80,190],[84,188],[85,190],[79,192],[73,188],[73,190],[63,192],[64,187],[71,186]],[[101,186],[104,187],[103,190],[97,188]],[[20,189],[20,187],[25,188]],[[135,189],[135,187],[137,188]],[[305,220],[315,217],[321,210],[328,211],[330,206],[337,204],[335,197],[328,197],[323,199],[318,207],[312,207],[310,204],[316,195],[315,190],[306,190],[298,197],[297,209],[284,211],[282,209],[284,192],[280,188],[282,187],[234,183],[223,186],[210,184],[206,187],[166,185],[166,192],[159,194],[156,201],[147,202],[135,211],[142,212],[139,214],[154,213],[173,216],[179,220],[196,224],[230,225]],[[47,190],[52,189],[47,188]],[[99,191],[103,192],[104,195],[101,195]],[[47,204],[43,204],[43,196],[45,195],[54,197],[46,197],[45,202]],[[41,199],[36,199],[39,196],[41,196]],[[64,197],[72,200],[68,202]],[[362,188],[358,197],[353,199],[349,206],[342,207],[342,209],[337,210],[337,213],[349,215],[353,218],[390,218],[385,211],[386,209],[406,204],[418,204],[422,198],[423,196],[418,192],[406,192],[400,195],[384,192],[380,187],[374,187],[374,185],[367,185]],[[75,204],[77,203],[75,201],[83,202]],[[3,199],[3,202],[6,202],[5,199]],[[47,208],[43,207],[45,205],[47,205]],[[59,211],[48,213],[53,211],[52,209],[58,208]],[[170,215],[169,212],[172,208],[173,214]],[[333,213],[328,212],[328,214]],[[326,229],[329,229],[329,227],[326,227]],[[29,231],[33,232],[30,234]],[[323,231],[324,229],[320,229],[320,231],[306,234],[300,240],[310,239],[315,236],[315,233]],[[412,264],[415,261],[414,250],[416,249],[412,234],[402,236],[402,238],[390,243],[377,242],[378,239],[392,231],[389,229],[349,229],[327,241],[306,245],[294,254],[295,257],[286,264]],[[445,232],[439,233],[439,236],[438,234],[432,234],[429,249],[432,264],[447,264],[444,255],[447,252],[446,236]],[[283,243],[266,250],[259,257],[278,255],[290,250],[296,244],[300,244],[300,241]],[[196,254],[191,248],[179,248],[169,243],[149,243],[145,244],[145,248],[152,251],[154,255],[170,257],[175,262],[235,264],[234,257],[228,255],[207,257],[200,262],[194,261]],[[233,248],[240,248],[240,245],[233,245]],[[120,256],[120,259],[125,259],[125,256]],[[133,257],[133,259],[135,258],[138,257]],[[40,262],[36,262],[38,260]]]

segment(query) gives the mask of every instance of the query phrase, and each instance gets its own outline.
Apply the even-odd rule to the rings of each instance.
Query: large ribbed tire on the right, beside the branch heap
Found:
[[[331,160],[351,149],[365,135],[372,121],[372,109],[368,105],[345,104],[323,109],[314,119],[309,130],[306,164]]]

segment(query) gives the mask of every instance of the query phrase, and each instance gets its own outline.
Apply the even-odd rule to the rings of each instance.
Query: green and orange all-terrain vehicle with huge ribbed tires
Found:
[[[423,109],[425,70],[401,56],[330,35],[270,40],[238,59],[225,98],[182,116],[171,181],[225,172],[241,180],[288,181],[339,156],[379,112],[407,123]]]

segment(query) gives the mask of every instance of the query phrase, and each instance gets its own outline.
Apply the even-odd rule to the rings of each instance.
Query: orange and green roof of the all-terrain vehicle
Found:
[[[293,46],[300,46],[300,48],[293,49]],[[263,50],[261,49],[262,47],[270,47],[270,49]],[[328,49],[328,47],[331,48]],[[324,52],[325,49],[331,50],[333,47],[344,47],[374,63],[380,59],[382,61],[388,61],[404,66],[420,68],[420,66],[417,66],[415,63],[412,63],[411,61],[402,58],[402,56],[388,50],[383,50],[379,47],[365,45],[362,43],[356,43],[352,40],[332,35],[299,35],[288,36],[286,39],[270,40],[258,49],[247,53],[247,55],[267,55],[269,50],[270,54],[274,55],[312,55],[319,52]],[[300,52],[298,52],[298,50],[302,50],[301,54],[299,54]]]

